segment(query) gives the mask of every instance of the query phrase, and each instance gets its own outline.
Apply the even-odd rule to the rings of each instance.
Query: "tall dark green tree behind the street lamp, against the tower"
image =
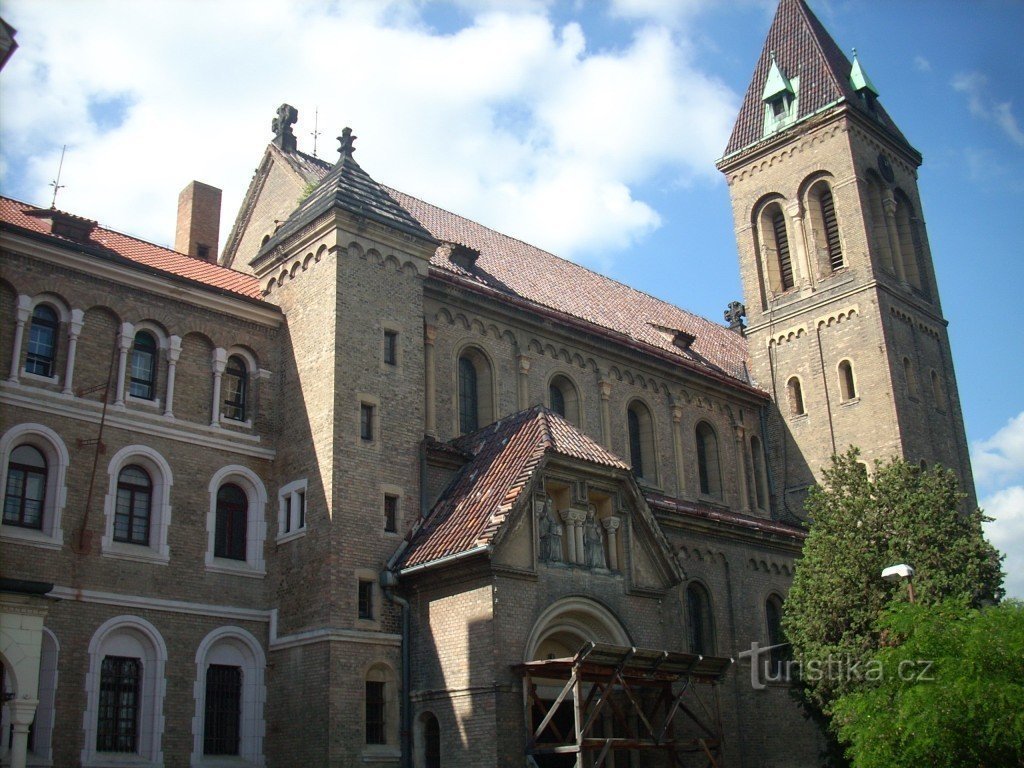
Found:
[[[833,701],[863,683],[879,647],[878,621],[906,600],[882,569],[908,563],[916,599],[1001,597],[999,555],[981,531],[981,510],[965,512],[955,475],[902,460],[876,463],[871,477],[850,449],[811,489],[809,523],[785,602],[782,627],[803,674],[805,701],[830,715]]]

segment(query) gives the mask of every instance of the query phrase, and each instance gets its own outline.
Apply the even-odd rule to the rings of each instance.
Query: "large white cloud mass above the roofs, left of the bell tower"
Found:
[[[587,48],[542,2],[465,3],[441,33],[416,2],[9,2],[20,47],[0,90],[2,181],[161,243],[197,178],[224,189],[221,238],[284,101],[321,157],[345,125],[378,180],[560,255],[600,259],[660,218],[637,187],[709,178],[738,106],[680,36]],[[113,117],[97,121],[103,103]],[[99,104],[100,106],[97,106]],[[17,178],[14,178],[16,173]]]

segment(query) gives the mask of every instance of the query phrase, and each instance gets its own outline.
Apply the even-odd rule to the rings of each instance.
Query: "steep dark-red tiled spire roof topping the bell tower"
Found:
[[[850,85],[850,61],[821,22],[804,0],[780,0],[761,56],[754,68],[732,136],[725,147],[726,157],[764,137],[765,106],[761,96],[773,52],[787,78],[800,77],[797,120],[809,117],[840,99],[855,104],[866,114],[867,108]],[[876,104],[876,115],[886,128],[906,143],[881,104]]]

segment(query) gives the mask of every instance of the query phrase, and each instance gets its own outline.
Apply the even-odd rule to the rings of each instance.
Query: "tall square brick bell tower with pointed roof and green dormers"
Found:
[[[725,156],[776,514],[830,457],[954,470],[975,503],[921,154],[804,0],[780,0]]]

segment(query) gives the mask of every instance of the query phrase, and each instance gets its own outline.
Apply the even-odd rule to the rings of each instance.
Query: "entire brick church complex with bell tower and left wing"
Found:
[[[818,764],[779,629],[808,488],[854,444],[974,496],[882,93],[779,0],[724,324],[348,129],[301,152],[288,104],[222,249],[198,181],[174,250],[0,198],[0,765]]]

